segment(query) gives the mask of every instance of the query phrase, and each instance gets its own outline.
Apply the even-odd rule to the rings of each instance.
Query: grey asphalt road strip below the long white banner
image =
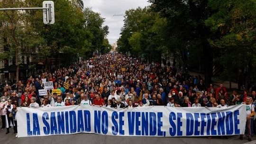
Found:
[[[9,134],[5,134],[6,129],[0,129],[1,144],[244,144],[247,137],[240,140],[239,136],[229,136],[229,139],[213,137],[135,137],[135,136],[103,136],[97,134],[74,134],[61,136],[33,136],[15,137],[13,129]],[[25,132],[25,130],[24,130]],[[252,142],[256,144],[256,136],[252,137]]]

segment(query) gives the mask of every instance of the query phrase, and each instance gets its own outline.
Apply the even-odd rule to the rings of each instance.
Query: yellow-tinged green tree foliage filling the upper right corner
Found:
[[[256,1],[209,0],[209,6],[215,13],[205,23],[216,35],[209,42],[219,50],[222,77],[234,79],[238,69],[247,68],[248,86],[249,79],[255,78]]]

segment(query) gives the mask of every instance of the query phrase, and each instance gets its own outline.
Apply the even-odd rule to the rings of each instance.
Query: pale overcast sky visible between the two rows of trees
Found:
[[[83,0],[83,2],[85,8],[92,8],[93,11],[101,13],[101,17],[105,18],[104,25],[109,26],[108,39],[110,44],[119,39],[124,20],[123,16],[113,17],[113,15],[125,14],[126,10],[144,8],[149,5],[147,0]]]

